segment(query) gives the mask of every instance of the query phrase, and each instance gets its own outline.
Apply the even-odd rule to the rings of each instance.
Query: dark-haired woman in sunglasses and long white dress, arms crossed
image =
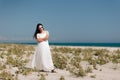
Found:
[[[32,67],[41,71],[55,72],[48,44],[48,31],[45,31],[43,25],[39,23],[33,37],[37,40],[38,45],[32,60]]]

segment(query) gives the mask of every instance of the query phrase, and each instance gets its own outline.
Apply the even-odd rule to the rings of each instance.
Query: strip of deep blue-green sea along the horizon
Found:
[[[36,42],[30,43],[20,43],[20,44],[27,44],[27,45],[37,45]],[[120,47],[120,43],[74,43],[74,42],[50,42],[49,45],[54,46],[92,46],[92,47]]]

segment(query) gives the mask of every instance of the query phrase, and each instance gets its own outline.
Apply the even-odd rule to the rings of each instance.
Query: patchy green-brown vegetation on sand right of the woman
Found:
[[[54,65],[59,64],[59,66],[62,66],[65,63],[64,67],[56,66],[57,68],[66,69],[78,77],[84,77],[87,73],[92,72],[92,67],[88,66],[86,69],[83,69],[80,65],[81,61],[88,62],[96,70],[97,65],[104,65],[109,62],[120,63],[120,50],[110,54],[111,52],[107,49],[55,47],[52,49],[52,52]],[[64,54],[64,57],[59,53]],[[95,75],[91,77],[95,78]]]

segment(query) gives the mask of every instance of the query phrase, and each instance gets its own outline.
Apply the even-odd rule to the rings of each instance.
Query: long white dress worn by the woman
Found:
[[[38,33],[37,38],[44,38],[47,33],[48,31],[42,34]],[[32,68],[44,71],[54,69],[48,40],[38,43],[32,60]]]

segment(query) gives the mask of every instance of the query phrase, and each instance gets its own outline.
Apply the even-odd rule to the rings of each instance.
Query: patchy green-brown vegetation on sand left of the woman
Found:
[[[18,80],[18,74],[27,75],[33,72],[32,69],[25,68],[29,59],[23,55],[33,54],[32,46],[21,44],[0,44],[0,79],[2,80]],[[28,52],[26,52],[28,51]],[[9,70],[16,68],[14,73]]]

